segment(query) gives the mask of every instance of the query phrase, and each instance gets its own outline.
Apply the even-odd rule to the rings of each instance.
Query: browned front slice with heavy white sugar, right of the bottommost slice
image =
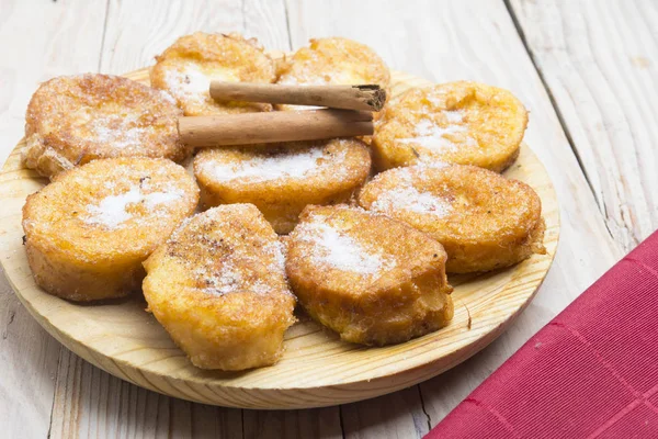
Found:
[[[452,319],[443,247],[401,222],[361,209],[308,206],[287,250],[299,303],[345,341],[402,342]]]

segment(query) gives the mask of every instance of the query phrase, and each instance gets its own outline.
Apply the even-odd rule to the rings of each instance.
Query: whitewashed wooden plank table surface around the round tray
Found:
[[[398,70],[515,93],[531,112],[525,139],[553,178],[561,215],[555,263],[503,336],[422,384],[330,408],[220,408],[122,382],[41,329],[2,277],[0,435],[422,436],[658,227],[656,23],[655,0],[0,0],[2,161],[22,136],[31,94],[50,77],[134,70],[197,30],[238,31],[282,50],[340,35]]]

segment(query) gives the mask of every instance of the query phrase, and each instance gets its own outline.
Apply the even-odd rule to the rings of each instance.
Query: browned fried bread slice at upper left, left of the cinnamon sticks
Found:
[[[54,78],[27,106],[23,161],[46,177],[99,158],[181,161],[191,149],[179,139],[180,115],[171,97],[126,78]]]

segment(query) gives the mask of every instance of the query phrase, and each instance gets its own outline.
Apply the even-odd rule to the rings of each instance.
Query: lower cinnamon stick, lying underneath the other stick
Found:
[[[179,119],[181,140],[195,147],[315,140],[373,134],[373,114],[353,110],[272,111]]]

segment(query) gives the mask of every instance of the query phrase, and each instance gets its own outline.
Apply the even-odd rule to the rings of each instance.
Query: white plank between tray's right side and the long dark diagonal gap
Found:
[[[449,374],[421,384],[431,424],[441,420],[532,334],[621,256],[570,149],[548,95],[502,1],[288,1],[295,47],[340,35],[374,47],[392,68],[434,81],[478,80],[517,94],[531,111],[525,140],[552,176],[560,202],[561,239],[536,299],[490,348]],[[361,404],[373,404],[364,402]],[[344,421],[344,417],[343,417]],[[397,420],[381,424],[384,431]],[[345,424],[345,423],[343,423]],[[343,425],[347,430],[350,426]],[[393,434],[390,435],[394,436]]]

